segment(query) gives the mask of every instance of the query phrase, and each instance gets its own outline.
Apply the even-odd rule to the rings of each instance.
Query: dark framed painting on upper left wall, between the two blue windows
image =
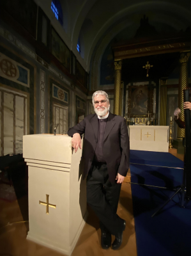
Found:
[[[70,49],[66,46],[54,28],[51,29],[51,52],[70,72]]]

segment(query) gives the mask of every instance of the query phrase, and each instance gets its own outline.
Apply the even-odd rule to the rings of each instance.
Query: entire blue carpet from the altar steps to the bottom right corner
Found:
[[[133,152],[132,152],[133,151]],[[139,156],[136,159],[135,156]],[[157,156],[158,155],[158,156]],[[142,159],[141,159],[142,156]],[[140,160],[141,159],[141,160]],[[151,186],[172,188],[183,179],[183,162],[169,153],[141,152],[131,150],[130,164],[132,182]],[[157,166],[144,166],[144,162]],[[157,163],[157,164],[155,164]],[[173,168],[175,167],[175,168]],[[190,256],[191,255],[191,204],[179,206],[180,193],[155,217],[151,215],[174,194],[171,189],[131,184],[135,218],[135,233],[138,256]]]

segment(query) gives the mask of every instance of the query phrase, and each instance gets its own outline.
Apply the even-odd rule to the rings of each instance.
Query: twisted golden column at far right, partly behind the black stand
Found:
[[[180,54],[180,79],[179,79],[179,87],[178,87],[178,108],[180,108],[180,119],[182,121],[185,121],[185,115],[184,115],[184,109],[183,109],[183,90],[188,87],[188,59],[190,57],[190,51],[189,52],[181,52]],[[185,129],[181,129],[178,127],[178,138],[184,138],[185,137]]]

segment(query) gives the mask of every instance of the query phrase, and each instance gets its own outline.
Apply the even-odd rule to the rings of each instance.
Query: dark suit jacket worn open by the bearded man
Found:
[[[88,115],[82,122],[68,130],[68,135],[71,137],[75,133],[84,134],[82,166],[84,177],[86,177],[95,156],[98,141],[98,116],[96,114]],[[117,173],[126,176],[129,168],[129,152],[125,118],[109,113],[103,137],[103,157],[107,163],[111,183],[115,182]]]

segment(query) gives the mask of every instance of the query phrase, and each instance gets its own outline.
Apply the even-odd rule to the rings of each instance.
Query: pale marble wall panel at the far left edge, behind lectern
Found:
[[[1,88],[1,156],[22,153],[27,131],[27,96]]]

